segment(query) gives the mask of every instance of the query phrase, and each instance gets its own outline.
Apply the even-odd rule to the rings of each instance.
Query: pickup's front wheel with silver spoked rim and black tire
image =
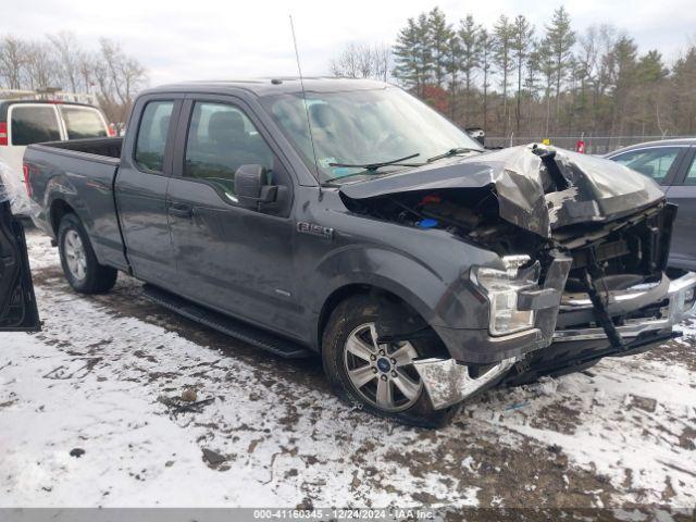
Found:
[[[418,373],[407,363],[432,350],[427,346],[432,341],[412,340],[378,347],[373,343],[372,351],[365,352],[369,340],[376,337],[376,301],[366,295],[350,297],[332,312],[322,337],[322,359],[334,393],[351,406],[402,424],[443,426],[459,411],[459,405],[433,409]],[[386,357],[381,357],[378,349],[383,349]],[[360,386],[362,381],[364,384]]]

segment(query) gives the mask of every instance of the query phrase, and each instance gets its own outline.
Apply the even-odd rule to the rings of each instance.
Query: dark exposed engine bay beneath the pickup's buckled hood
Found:
[[[500,219],[493,187],[407,192],[349,201],[352,211],[418,228],[440,228],[499,256],[526,253],[539,259],[551,249],[573,258],[567,290],[583,291],[584,271],[601,274],[606,289],[624,289],[658,276],[667,265],[672,204],[660,202],[609,223],[583,223],[543,238]]]

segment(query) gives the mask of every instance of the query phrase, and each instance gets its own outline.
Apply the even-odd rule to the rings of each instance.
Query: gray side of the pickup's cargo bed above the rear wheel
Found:
[[[61,212],[74,212],[92,240],[102,264],[127,269],[114,200],[114,181],[121,164],[123,138],[90,138],[30,145],[28,163],[32,199],[41,207],[37,225],[58,236]],[[52,206],[61,195],[65,204]]]

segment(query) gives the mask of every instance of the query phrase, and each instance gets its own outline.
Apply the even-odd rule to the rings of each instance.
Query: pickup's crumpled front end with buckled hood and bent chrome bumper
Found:
[[[496,266],[463,269],[487,327],[431,325],[450,357],[415,366],[436,408],[530,374],[544,355],[564,351],[559,344],[591,336],[600,346],[593,350],[609,348],[597,352],[605,357],[645,346],[650,333],[669,338],[691,307],[692,275],[667,275],[675,208],[651,179],[614,162],[531,145],[340,192],[353,212],[445,229],[499,257]]]

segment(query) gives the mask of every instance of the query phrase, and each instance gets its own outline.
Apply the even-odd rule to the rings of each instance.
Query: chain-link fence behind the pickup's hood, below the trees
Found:
[[[551,145],[561,149],[576,150],[579,141],[584,141],[585,153],[606,154],[629,145],[660,139],[693,138],[694,136],[486,136],[486,147],[513,147],[515,145],[540,144],[549,139]]]

